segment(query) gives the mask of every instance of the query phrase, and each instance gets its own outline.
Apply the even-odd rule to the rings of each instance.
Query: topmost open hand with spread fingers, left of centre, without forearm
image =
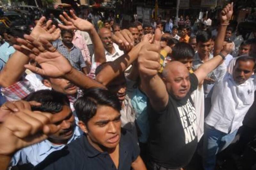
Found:
[[[85,19],[78,18],[74,11],[70,10],[71,17],[68,16],[66,12],[63,12],[63,15],[60,15],[60,19],[65,23],[65,26],[59,24],[58,26],[62,29],[78,29],[81,31],[91,31],[94,27],[92,23],[86,21]]]

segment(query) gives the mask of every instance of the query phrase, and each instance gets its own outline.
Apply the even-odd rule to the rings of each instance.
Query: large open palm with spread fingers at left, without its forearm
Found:
[[[40,38],[39,41],[37,41],[29,35],[24,35],[24,38],[27,41],[20,38],[18,38],[17,41],[30,50],[24,49],[19,45],[14,45],[13,47],[28,55],[41,66],[41,68],[39,68],[26,64],[25,67],[27,69],[36,74],[50,78],[59,78],[71,72],[73,67],[70,65],[69,61],[60,54],[49,41],[44,38]]]

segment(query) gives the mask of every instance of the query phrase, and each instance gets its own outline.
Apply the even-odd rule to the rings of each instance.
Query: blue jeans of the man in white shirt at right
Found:
[[[212,126],[204,126],[203,164],[205,170],[214,170],[216,154],[234,140],[237,130],[232,133],[221,132]]]

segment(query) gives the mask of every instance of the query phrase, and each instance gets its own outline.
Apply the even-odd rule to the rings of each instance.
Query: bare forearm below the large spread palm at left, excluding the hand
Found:
[[[104,85],[86,76],[84,73],[76,70],[75,68],[65,75],[64,78],[83,89],[91,87],[106,88]]]

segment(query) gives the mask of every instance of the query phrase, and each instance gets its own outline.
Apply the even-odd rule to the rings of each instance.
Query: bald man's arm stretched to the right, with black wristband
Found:
[[[228,55],[230,51],[233,48],[233,43],[228,43],[225,46],[223,46],[223,49],[221,53],[223,55]],[[216,67],[218,67],[221,63],[223,63],[223,58],[221,55],[217,55],[213,57],[211,60],[208,60],[207,62],[203,63],[194,73],[198,79],[198,82],[201,82],[204,80],[204,78]]]

